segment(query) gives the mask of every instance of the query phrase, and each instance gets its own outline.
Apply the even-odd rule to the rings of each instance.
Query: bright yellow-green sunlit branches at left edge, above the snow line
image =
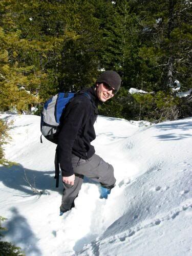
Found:
[[[41,75],[34,72],[34,66],[19,64],[19,49],[26,47],[19,34],[18,31],[5,33],[0,27],[0,111],[27,110],[29,104],[38,102],[34,90],[27,89],[39,83]]]

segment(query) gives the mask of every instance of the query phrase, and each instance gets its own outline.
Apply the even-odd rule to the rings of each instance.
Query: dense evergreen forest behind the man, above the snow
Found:
[[[191,27],[188,0],[1,0],[0,111],[35,107],[39,115],[52,95],[115,70],[122,87],[99,114],[153,122],[191,116],[192,96],[173,91],[175,80],[179,92],[191,89]],[[0,119],[1,145],[7,129]]]

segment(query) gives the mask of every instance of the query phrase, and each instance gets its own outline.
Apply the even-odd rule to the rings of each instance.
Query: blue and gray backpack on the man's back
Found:
[[[60,117],[65,110],[66,105],[76,94],[86,95],[91,100],[90,95],[86,92],[58,93],[44,103],[44,108],[41,112],[40,131],[46,139],[55,144],[57,144],[58,133],[60,130]],[[40,137],[41,143],[42,135]]]

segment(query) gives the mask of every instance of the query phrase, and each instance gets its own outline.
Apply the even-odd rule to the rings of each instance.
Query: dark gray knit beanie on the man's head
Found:
[[[121,86],[121,77],[117,72],[113,70],[107,70],[103,72],[99,78],[97,79],[96,83],[103,83],[105,82],[109,86],[113,87],[117,91]]]

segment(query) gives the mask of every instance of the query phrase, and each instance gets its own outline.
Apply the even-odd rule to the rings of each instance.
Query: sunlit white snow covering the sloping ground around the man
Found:
[[[84,182],[62,217],[55,145],[40,143],[40,118],[4,118],[14,120],[6,157],[19,165],[0,166],[0,215],[8,218],[5,239],[26,255],[192,255],[192,118],[148,125],[98,117],[93,144],[113,164],[116,187],[105,200]]]

